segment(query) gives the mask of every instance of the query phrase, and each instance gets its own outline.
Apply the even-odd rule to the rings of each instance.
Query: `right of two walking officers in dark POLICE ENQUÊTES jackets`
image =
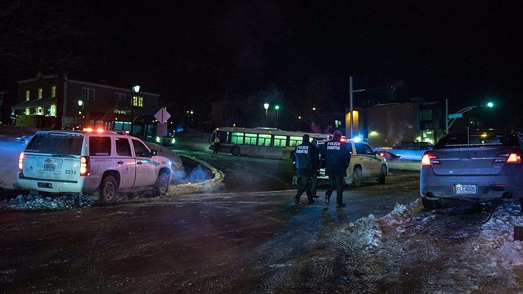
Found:
[[[350,152],[347,143],[342,141],[342,133],[334,132],[334,138],[325,142],[321,152],[322,159],[325,159],[325,175],[328,176],[331,185],[325,192],[325,205],[331,201],[331,195],[336,188],[336,207],[344,207],[343,203],[343,184],[344,177],[347,176],[347,167],[350,162]]]

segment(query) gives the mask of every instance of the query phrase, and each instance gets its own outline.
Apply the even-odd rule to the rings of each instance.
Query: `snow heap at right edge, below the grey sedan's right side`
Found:
[[[523,227],[519,204],[499,205],[490,220],[483,224],[482,239],[474,250],[498,248],[498,258],[493,262],[503,266],[523,265],[523,241],[514,241],[514,225]]]

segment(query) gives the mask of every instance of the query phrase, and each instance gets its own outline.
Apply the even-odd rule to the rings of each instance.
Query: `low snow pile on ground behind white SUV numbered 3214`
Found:
[[[0,203],[0,208],[12,210],[40,210],[40,209],[70,209],[88,207],[94,204],[84,196],[76,194],[64,194],[58,197],[42,198],[40,195],[29,194],[27,196],[18,195],[16,198],[4,200]]]

